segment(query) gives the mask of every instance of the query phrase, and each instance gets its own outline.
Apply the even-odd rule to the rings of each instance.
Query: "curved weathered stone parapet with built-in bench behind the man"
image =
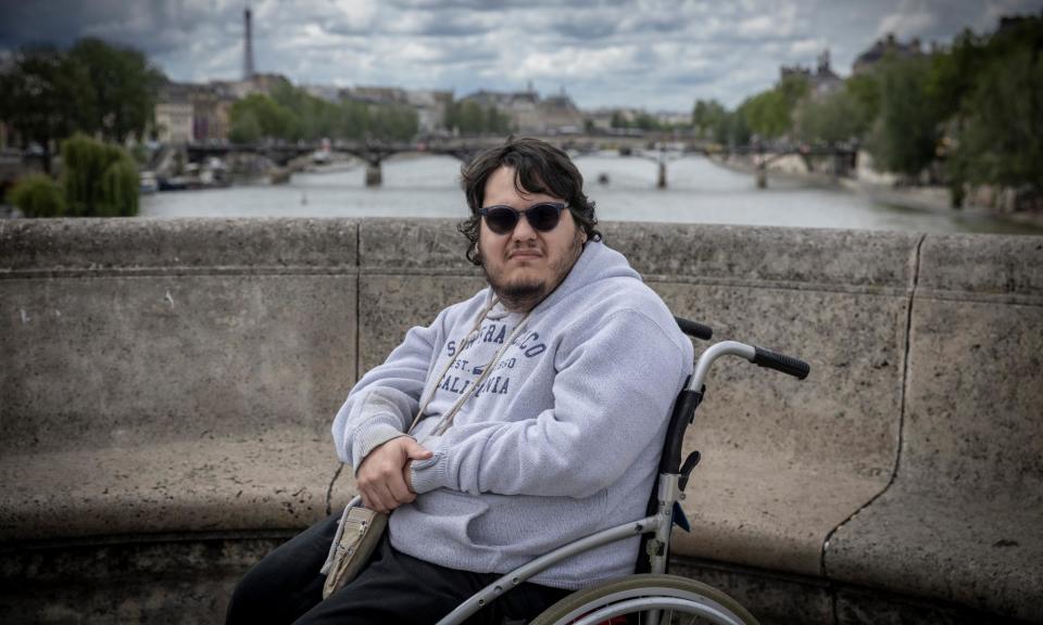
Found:
[[[162,552],[202,572],[198,553],[219,552],[224,573],[196,577],[186,622],[219,620],[255,550],[237,545],[290,535],[350,495],[328,432],[357,377],[483,285],[454,226],[0,221],[3,579],[24,596],[34,579],[62,586],[41,562],[76,576],[102,551]],[[804,382],[741,361],[712,373],[688,436],[704,460],[679,566],[729,586],[767,623],[854,623],[893,611],[893,597],[1033,618],[1043,241],[602,230],[715,340],[812,365]],[[68,545],[73,556],[55,551]],[[0,591],[0,616],[47,621],[41,610],[74,609],[63,601],[161,613],[164,592],[176,605],[162,572],[128,564],[142,566],[155,578],[147,599],[80,590],[18,612]]]

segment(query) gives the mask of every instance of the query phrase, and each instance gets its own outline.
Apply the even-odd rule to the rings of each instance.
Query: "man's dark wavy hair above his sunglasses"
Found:
[[[568,212],[587,233],[587,239],[601,241],[601,232],[594,228],[598,225],[594,203],[583,194],[583,176],[568,154],[539,139],[510,138],[503,145],[482,152],[460,169],[461,187],[467,196],[470,217],[461,221],[456,229],[467,238],[468,260],[481,265],[476,254],[478,230],[481,227],[478,211],[485,202],[489,176],[502,166],[514,168],[514,184],[518,191],[546,193],[565,200]]]

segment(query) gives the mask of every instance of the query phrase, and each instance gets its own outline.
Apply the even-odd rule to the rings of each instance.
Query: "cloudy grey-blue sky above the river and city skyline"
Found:
[[[294,84],[541,93],[582,109],[734,106],[779,65],[828,49],[841,76],[887,33],[947,43],[1043,0],[0,0],[0,52],[97,36],[136,47],[175,80],[242,74],[253,11],[260,72]]]

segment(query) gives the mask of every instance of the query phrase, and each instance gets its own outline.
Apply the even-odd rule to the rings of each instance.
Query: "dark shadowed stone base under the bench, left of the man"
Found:
[[[0,622],[222,623],[247,570],[289,537],[155,538],[0,553]]]

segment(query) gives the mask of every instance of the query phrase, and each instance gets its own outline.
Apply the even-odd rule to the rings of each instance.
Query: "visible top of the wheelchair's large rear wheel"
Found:
[[[531,625],[598,625],[646,623],[650,612],[658,623],[757,625],[738,601],[712,586],[677,575],[632,575],[577,590]]]

